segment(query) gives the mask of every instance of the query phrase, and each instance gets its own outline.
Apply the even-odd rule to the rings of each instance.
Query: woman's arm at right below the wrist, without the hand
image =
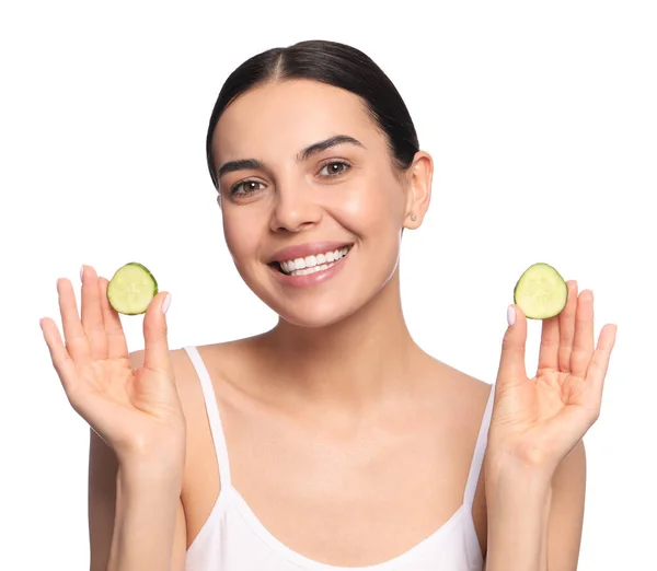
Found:
[[[584,443],[554,476],[492,458],[486,465],[486,571],[575,571],[586,479]]]

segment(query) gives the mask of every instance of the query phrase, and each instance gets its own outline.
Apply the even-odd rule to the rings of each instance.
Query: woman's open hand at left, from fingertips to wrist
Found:
[[[59,279],[57,291],[66,345],[53,319],[43,318],[41,327],[73,409],[122,467],[182,476],[185,418],[166,340],[169,294],[160,292],[148,306],[143,366],[134,371],[118,313],[107,301],[107,280],[83,267],[81,319],[71,282]]]

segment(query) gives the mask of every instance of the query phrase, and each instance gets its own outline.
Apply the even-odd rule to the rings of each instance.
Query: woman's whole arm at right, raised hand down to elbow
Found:
[[[602,327],[596,347],[592,292],[567,286],[564,310],[543,321],[533,378],[525,363],[527,318],[508,308],[485,465],[488,571],[577,569],[581,439],[600,415],[616,326]]]

